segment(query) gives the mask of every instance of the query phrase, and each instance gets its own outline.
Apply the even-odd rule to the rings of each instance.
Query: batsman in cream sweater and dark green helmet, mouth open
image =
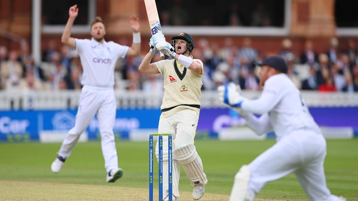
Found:
[[[165,42],[163,34],[156,34],[150,39],[151,49],[139,66],[142,73],[162,74],[164,76],[164,97],[158,133],[171,133],[173,136],[173,195],[168,195],[168,136],[163,136],[163,200],[179,197],[179,177],[182,164],[193,189],[194,200],[204,195],[204,185],[208,180],[203,171],[203,163],[194,146],[200,112],[200,88],[204,74],[203,62],[193,59],[190,54],[194,49],[192,36],[179,33],[172,38],[173,46]],[[161,60],[150,63],[155,52],[159,50],[173,60]],[[158,159],[158,142],[155,147]],[[178,163],[179,162],[179,163]]]

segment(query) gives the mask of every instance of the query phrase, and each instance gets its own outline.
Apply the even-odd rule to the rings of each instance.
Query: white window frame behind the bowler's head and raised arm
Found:
[[[88,0],[88,21],[87,25],[73,25],[72,34],[87,34],[91,30],[91,22],[96,16],[96,0]],[[43,25],[42,33],[44,34],[61,34],[65,25]]]

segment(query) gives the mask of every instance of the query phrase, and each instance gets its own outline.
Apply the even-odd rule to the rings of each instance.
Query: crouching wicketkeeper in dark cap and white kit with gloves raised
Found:
[[[277,143],[235,175],[230,201],[253,201],[269,181],[294,172],[313,201],[344,201],[332,195],[326,186],[324,158],[326,141],[301,98],[300,91],[287,77],[287,65],[280,56],[263,60],[261,96],[248,100],[237,86],[218,87],[219,99],[233,107],[258,135],[275,131]],[[258,118],[253,115],[261,114]]]

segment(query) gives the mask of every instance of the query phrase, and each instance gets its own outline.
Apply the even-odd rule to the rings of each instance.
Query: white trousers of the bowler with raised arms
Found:
[[[68,158],[79,136],[88,127],[97,114],[101,133],[101,146],[105,158],[105,168],[109,172],[118,168],[118,157],[113,134],[116,119],[116,99],[113,88],[97,88],[84,86],[79,100],[76,122],[64,139],[59,156]]]

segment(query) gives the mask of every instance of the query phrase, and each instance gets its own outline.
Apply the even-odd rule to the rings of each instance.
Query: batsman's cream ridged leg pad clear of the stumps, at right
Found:
[[[208,180],[203,170],[203,163],[195,149],[194,144],[188,143],[174,150],[175,159],[182,164],[185,173],[194,187],[202,183],[207,184]]]

